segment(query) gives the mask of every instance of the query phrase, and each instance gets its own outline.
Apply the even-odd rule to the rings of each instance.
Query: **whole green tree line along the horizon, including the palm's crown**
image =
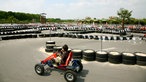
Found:
[[[122,14],[123,13],[123,14]],[[126,13],[126,14],[125,14]],[[51,23],[84,23],[84,24],[134,24],[134,25],[146,25],[146,18],[136,19],[131,17],[132,11],[126,9],[120,9],[117,11],[119,16],[111,16],[107,19],[97,19],[91,17],[85,17],[84,19],[60,19],[60,18],[46,18],[46,22]],[[122,20],[123,17],[128,16]],[[0,11],[0,23],[40,23],[40,14],[30,14],[22,12],[12,11]]]

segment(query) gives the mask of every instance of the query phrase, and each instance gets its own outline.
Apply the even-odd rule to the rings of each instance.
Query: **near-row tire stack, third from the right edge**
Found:
[[[109,52],[108,61],[110,63],[114,63],[114,64],[122,63],[122,55],[121,55],[121,53],[115,52],[115,51],[114,52],[113,51]]]

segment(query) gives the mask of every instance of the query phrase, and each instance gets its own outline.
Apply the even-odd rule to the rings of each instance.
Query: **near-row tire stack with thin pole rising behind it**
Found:
[[[97,51],[96,52],[96,61],[99,61],[99,62],[108,61],[108,53],[106,51]]]

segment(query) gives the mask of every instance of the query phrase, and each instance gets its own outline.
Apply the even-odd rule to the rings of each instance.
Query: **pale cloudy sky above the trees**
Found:
[[[0,0],[0,10],[33,14],[47,18],[84,19],[117,16],[120,8],[132,11],[134,18],[146,18],[146,0]]]

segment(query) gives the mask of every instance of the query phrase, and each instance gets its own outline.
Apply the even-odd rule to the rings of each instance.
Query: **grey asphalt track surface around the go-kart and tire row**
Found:
[[[39,76],[34,65],[48,54],[44,52],[49,38],[0,41],[0,82],[65,82],[63,72],[53,70]],[[52,38],[56,45],[68,44],[70,48],[100,50],[100,41]],[[103,41],[103,50],[119,52],[144,52],[144,41]],[[146,82],[146,67],[138,65],[87,62],[77,82]]]

